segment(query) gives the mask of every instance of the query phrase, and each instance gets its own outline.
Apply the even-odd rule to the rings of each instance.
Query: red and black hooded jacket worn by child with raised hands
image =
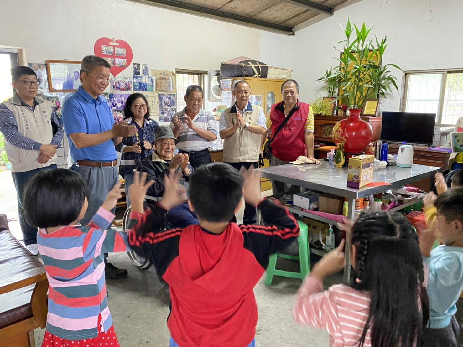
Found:
[[[131,213],[131,247],[150,258],[168,284],[167,325],[181,347],[247,346],[256,334],[253,288],[271,254],[299,235],[288,209],[264,199],[257,206],[265,225],[228,224],[221,234],[200,225],[162,229],[166,211]]]

